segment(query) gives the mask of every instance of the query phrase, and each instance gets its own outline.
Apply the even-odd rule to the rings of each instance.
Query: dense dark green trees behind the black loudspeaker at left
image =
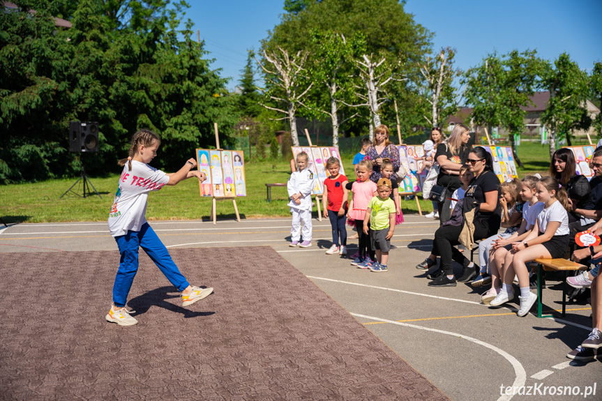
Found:
[[[183,1],[18,3],[19,12],[0,13],[1,181],[76,173],[69,121],[100,123],[100,152],[86,155],[97,174],[118,169],[130,135],[143,127],[162,137],[157,162],[169,169],[212,143],[213,122],[227,142],[236,103],[191,39],[191,22],[177,30]],[[51,11],[73,27],[57,29]]]

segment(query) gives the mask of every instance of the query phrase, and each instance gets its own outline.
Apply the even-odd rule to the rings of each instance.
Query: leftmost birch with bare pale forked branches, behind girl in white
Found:
[[[299,51],[290,56],[287,50],[278,46],[278,50],[274,52],[263,50],[262,54],[264,62],[259,61],[257,58],[255,60],[259,63],[262,70],[264,70],[266,88],[258,89],[264,92],[276,105],[280,105],[280,107],[272,107],[264,103],[259,103],[259,105],[262,105],[266,109],[285,114],[283,118],[277,120],[289,120],[292,144],[293,146],[299,146],[295,114],[301,104],[301,99],[306,96],[313,86],[313,83],[306,84],[306,80],[303,77],[303,64],[307,60],[308,52]],[[269,68],[266,67],[268,63]]]

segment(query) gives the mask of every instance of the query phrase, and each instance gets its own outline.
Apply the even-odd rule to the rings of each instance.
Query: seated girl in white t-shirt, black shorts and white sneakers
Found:
[[[527,262],[535,259],[555,259],[563,257],[569,249],[569,216],[566,212],[568,195],[557,179],[543,177],[536,183],[536,197],[543,202],[543,211],[537,216],[533,228],[525,239],[512,243],[512,252],[504,261],[502,291],[491,301],[497,306],[514,298],[512,280],[518,276],[520,287],[520,309],[517,315],[527,315],[537,301],[537,295],[529,289],[529,269]]]

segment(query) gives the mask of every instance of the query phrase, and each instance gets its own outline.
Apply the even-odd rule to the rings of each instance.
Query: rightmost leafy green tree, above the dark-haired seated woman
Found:
[[[552,155],[557,133],[564,133],[566,143],[571,145],[573,131],[587,130],[592,123],[586,105],[590,93],[588,77],[565,52],[558,56],[554,68],[549,63],[546,65],[542,86],[550,91],[550,100],[541,114],[541,121],[550,129]]]

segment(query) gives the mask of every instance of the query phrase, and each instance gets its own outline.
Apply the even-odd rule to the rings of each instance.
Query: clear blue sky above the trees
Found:
[[[280,22],[284,0],[189,0],[186,17],[205,40],[209,56],[232,77],[234,89],[248,49]],[[568,52],[580,68],[602,61],[601,0],[407,0],[407,13],[433,33],[433,50],[455,47],[456,66],[466,70],[489,53],[535,49],[545,59]],[[195,36],[196,37],[196,36]]]

